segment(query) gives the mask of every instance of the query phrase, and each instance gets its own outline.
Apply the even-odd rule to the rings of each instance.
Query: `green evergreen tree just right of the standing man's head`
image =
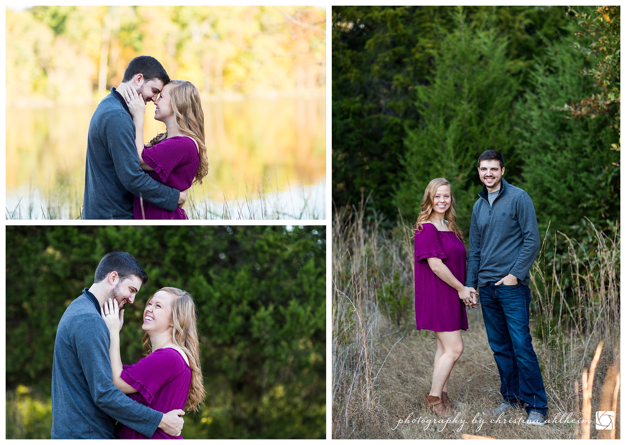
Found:
[[[515,107],[516,152],[525,165],[521,187],[535,204],[540,231],[573,233],[584,216],[603,229],[619,219],[619,154],[608,150],[619,142],[609,114],[572,118],[557,107],[580,102],[597,91],[585,55],[574,39],[552,43],[545,60],[531,73],[533,90]],[[599,224],[598,224],[599,223]]]

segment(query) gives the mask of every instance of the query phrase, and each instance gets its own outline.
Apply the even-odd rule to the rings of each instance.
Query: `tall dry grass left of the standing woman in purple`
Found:
[[[332,224],[332,411],[333,437],[352,437],[355,419],[380,407],[376,380],[382,367],[379,342],[401,330],[409,312],[413,269],[405,242],[386,236],[365,206],[344,207]],[[393,323],[396,322],[396,325]]]

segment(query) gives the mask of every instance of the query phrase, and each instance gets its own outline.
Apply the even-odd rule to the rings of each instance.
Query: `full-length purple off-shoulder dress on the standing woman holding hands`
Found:
[[[467,273],[465,246],[454,232],[440,232],[430,222],[415,231],[415,322],[417,329],[467,330],[468,317],[459,293],[434,275],[427,258],[440,258],[463,285]]]

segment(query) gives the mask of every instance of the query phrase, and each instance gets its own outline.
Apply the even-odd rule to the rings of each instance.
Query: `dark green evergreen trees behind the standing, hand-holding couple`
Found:
[[[332,8],[335,205],[371,193],[387,226],[413,222],[426,184],[444,176],[468,233],[476,159],[496,149],[542,234],[548,221],[577,234],[583,216],[611,228],[619,22],[619,7]],[[590,98],[605,106],[580,112]]]

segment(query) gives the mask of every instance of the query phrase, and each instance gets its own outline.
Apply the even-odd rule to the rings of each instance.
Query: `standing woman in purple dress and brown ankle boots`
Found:
[[[433,179],[424,191],[415,223],[415,320],[418,330],[432,330],[437,338],[426,406],[438,416],[454,414],[448,380],[463,353],[461,329],[468,328],[465,306],[476,307],[476,290],[464,285],[467,255],[462,240],[450,183]]]

